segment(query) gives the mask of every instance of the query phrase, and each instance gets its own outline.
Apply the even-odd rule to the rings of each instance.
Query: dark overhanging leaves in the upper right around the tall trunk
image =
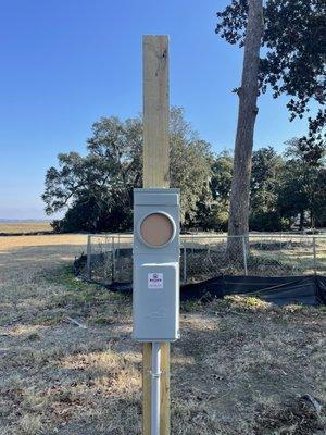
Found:
[[[217,17],[216,33],[242,47],[248,0],[233,0]],[[290,120],[302,117],[310,111],[310,102],[316,102],[317,114],[309,117],[309,137],[314,139],[322,139],[326,123],[325,28],[325,0],[264,1],[260,90],[269,87],[274,98],[287,95]]]

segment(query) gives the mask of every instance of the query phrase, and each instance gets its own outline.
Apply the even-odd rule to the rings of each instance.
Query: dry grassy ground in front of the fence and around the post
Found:
[[[1,435],[141,433],[130,298],[73,277],[85,244],[0,237]],[[184,304],[171,394],[173,435],[325,434],[325,309]]]

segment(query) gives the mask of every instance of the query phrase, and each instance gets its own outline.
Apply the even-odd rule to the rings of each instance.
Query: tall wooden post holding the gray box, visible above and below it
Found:
[[[170,187],[168,37],[146,35],[143,55],[143,187]],[[142,350],[142,433],[150,435],[151,344]],[[161,347],[161,435],[170,434],[170,344]]]

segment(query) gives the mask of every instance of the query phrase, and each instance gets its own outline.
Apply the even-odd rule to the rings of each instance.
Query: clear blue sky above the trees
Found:
[[[215,151],[231,149],[242,52],[214,34],[226,0],[3,0],[0,17],[0,217],[41,219],[46,170],[84,152],[102,115],[141,111],[141,36],[171,37],[171,103]],[[305,133],[264,96],[255,148]]]

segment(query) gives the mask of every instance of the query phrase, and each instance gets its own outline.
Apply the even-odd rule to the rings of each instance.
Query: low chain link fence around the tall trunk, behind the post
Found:
[[[89,235],[79,274],[111,284],[133,281],[133,235]],[[326,275],[326,235],[181,235],[180,278],[220,275]]]

